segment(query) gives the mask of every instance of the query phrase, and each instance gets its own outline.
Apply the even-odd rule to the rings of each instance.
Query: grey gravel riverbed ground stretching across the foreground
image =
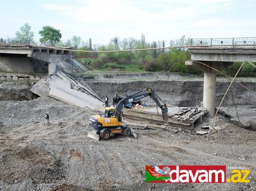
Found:
[[[256,189],[255,131],[222,116],[210,136],[146,129],[95,141],[86,136],[94,111],[51,98],[0,101],[0,111],[0,190]],[[229,167],[249,167],[250,183],[145,184],[145,165],[227,165],[227,175]]]

